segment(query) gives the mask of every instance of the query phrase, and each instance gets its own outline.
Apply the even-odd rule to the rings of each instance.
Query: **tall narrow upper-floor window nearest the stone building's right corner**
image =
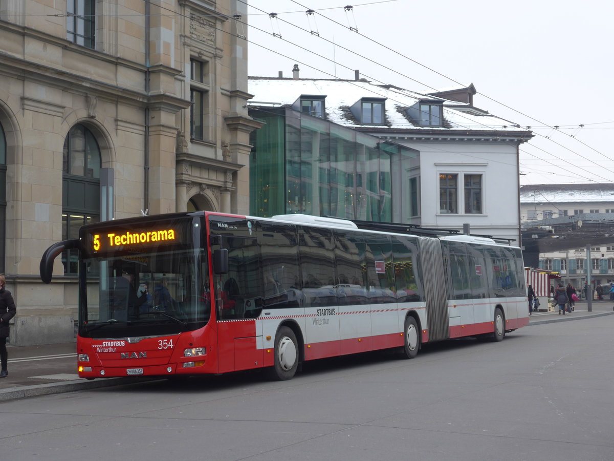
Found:
[[[209,137],[208,63],[190,60],[190,139],[203,141]]]

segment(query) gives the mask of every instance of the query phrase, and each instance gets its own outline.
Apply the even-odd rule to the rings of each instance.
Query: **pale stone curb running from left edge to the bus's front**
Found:
[[[73,392],[76,390],[97,389],[101,387],[119,386],[123,384],[134,384],[138,382],[146,382],[158,379],[160,378],[101,378],[91,381],[81,379],[74,381],[51,382],[47,384],[34,384],[29,386],[14,387],[10,389],[0,390],[0,402],[14,400],[18,398]]]

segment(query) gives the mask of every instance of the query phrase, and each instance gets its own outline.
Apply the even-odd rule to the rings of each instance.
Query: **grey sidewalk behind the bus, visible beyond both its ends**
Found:
[[[558,310],[533,312],[529,317],[529,326],[611,315],[614,314],[613,306],[612,301],[593,301],[593,311],[588,312],[587,302],[578,301],[575,311],[566,315],[559,315]],[[9,349],[9,376],[0,379],[0,402],[15,398],[130,384],[144,379],[142,377],[82,379],[77,374],[76,346],[75,342],[67,342],[7,347]]]

